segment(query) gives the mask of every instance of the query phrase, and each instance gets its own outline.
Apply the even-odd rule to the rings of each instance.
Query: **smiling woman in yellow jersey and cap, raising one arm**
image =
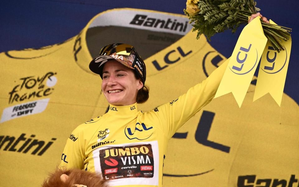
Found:
[[[169,139],[211,101],[227,63],[178,99],[144,113],[137,110],[137,103],[149,98],[145,63],[131,45],[103,47],[89,68],[102,78],[109,111],[72,132],[60,167],[97,172],[110,186],[162,186]]]

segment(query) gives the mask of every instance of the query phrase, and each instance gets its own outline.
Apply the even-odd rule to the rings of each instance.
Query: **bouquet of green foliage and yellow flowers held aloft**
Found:
[[[247,24],[251,14],[260,11],[254,0],[187,0],[185,14],[190,19],[197,39],[204,34],[208,40],[217,32],[231,29],[235,32],[240,24]],[[261,22],[263,31],[273,48],[280,52],[284,47],[279,43],[287,41],[291,28]]]

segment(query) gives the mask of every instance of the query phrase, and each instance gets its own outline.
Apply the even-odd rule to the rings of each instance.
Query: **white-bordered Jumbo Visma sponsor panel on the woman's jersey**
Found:
[[[158,141],[101,146],[93,159],[109,186],[159,184]]]

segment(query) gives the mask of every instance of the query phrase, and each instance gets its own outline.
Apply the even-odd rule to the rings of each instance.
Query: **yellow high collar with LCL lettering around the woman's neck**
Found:
[[[127,106],[116,106],[109,104],[110,108],[108,114],[110,115],[121,115],[121,116],[131,116],[138,113],[137,103],[127,105]]]

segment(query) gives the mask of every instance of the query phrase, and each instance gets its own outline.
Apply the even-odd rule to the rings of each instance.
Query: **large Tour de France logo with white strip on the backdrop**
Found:
[[[50,71],[42,75],[29,75],[16,80],[7,97],[7,103],[13,104],[13,106],[3,110],[1,122],[43,112],[50,100],[48,96],[53,93],[57,83],[55,74]]]

